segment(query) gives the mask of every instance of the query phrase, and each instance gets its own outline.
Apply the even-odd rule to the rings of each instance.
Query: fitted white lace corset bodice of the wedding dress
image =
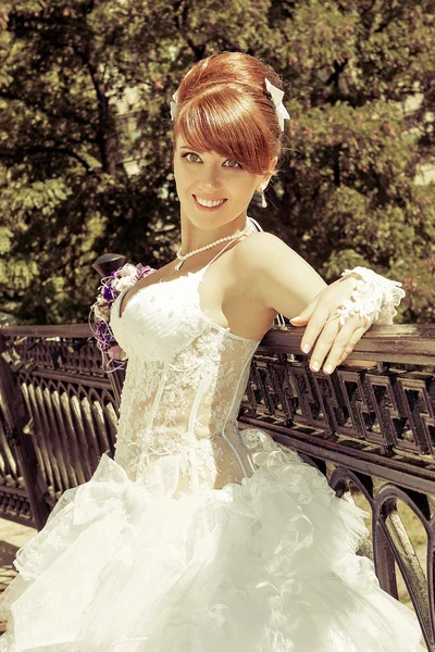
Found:
[[[236,419],[259,340],[203,314],[208,266],[140,288],[121,317],[127,290],[112,306],[111,328],[128,355],[114,459],[130,479],[164,481],[175,497],[253,472]]]

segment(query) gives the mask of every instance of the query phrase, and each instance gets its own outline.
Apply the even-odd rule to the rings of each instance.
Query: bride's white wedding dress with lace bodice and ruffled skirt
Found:
[[[203,314],[206,268],[141,288],[122,317],[114,302],[128,354],[114,460],[18,551],[0,650],[422,651],[413,612],[356,554],[364,513],[238,431],[259,342]]]

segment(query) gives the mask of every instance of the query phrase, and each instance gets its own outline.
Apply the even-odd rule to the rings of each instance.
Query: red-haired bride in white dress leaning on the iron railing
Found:
[[[326,359],[333,371],[400,299],[361,268],[325,287],[247,218],[277,164],[278,87],[262,62],[224,53],[175,95],[182,248],[113,304],[128,355],[116,453],[18,552],[0,650],[422,650],[412,612],[356,554],[363,512],[266,434],[237,430],[250,361],[277,313],[309,304],[302,348],[316,341],[311,368]]]

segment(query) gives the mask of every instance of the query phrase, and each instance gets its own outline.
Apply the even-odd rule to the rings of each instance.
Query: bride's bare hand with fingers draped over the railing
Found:
[[[353,277],[336,280],[319,292],[297,317],[290,319],[293,326],[307,325],[300,346],[303,353],[311,351],[315,342],[310,360],[311,371],[318,372],[327,356],[323,371],[332,374],[373,324],[374,318],[363,319],[359,314],[348,317],[343,326],[339,315],[334,317],[343,305],[343,299],[351,299],[355,287]],[[370,362],[360,362],[364,366],[371,365]]]

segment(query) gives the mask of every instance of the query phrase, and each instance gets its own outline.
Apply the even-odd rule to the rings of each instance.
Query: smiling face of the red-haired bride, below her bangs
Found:
[[[194,150],[182,136],[175,143],[174,175],[182,214],[204,230],[246,215],[252,195],[266,178],[216,152]]]

